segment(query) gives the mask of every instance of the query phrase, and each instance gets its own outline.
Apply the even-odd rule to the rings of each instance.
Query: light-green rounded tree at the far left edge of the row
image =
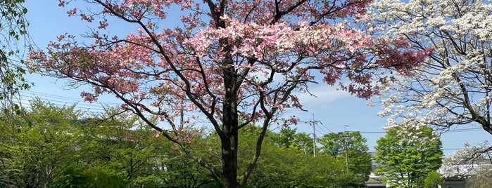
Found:
[[[74,107],[56,107],[37,99],[22,115],[0,121],[1,184],[51,187],[63,167],[76,163],[78,133]],[[10,116],[4,114],[4,116]]]

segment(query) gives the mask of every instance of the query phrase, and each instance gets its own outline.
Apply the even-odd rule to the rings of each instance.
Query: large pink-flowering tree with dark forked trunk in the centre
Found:
[[[89,2],[101,11],[69,8],[68,15],[99,22],[89,34],[94,43],[61,35],[47,51],[30,53],[32,68],[87,83],[92,90],[81,94],[87,101],[115,95],[122,109],[175,142],[223,187],[247,182],[266,130],[272,123],[298,121],[280,115],[302,109],[296,95],[308,92],[311,83],[339,84],[370,98],[394,79],[385,72],[411,74],[429,53],[405,49],[409,43],[403,38],[375,38],[374,28],[365,29],[366,0]],[[130,34],[104,34],[111,20],[125,22]],[[176,123],[183,111],[199,112],[203,125],[220,137],[221,168],[187,149],[196,134]],[[182,123],[193,123],[195,117],[188,117]],[[251,123],[261,127],[256,153],[238,172],[238,130]]]

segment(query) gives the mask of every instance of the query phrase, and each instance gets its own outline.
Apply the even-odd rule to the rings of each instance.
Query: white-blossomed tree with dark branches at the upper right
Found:
[[[387,88],[381,115],[390,116],[390,123],[443,129],[478,123],[492,134],[490,2],[381,0],[371,8],[386,34],[432,51],[415,74],[400,76]]]

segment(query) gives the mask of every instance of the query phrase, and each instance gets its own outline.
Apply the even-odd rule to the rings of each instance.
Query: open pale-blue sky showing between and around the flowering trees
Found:
[[[89,27],[99,24],[88,25],[87,22],[80,21],[77,17],[68,17],[68,8],[58,7],[58,1],[27,1],[25,6],[28,9],[27,19],[30,20],[30,36],[34,43],[44,49],[49,41],[56,41],[56,36],[61,34],[84,34],[89,31]],[[111,22],[110,22],[111,24]],[[111,34],[127,34],[125,25],[113,24],[109,27]],[[79,38],[79,37],[77,37]],[[82,39],[80,37],[79,39]],[[53,79],[39,74],[27,75],[28,81],[34,82],[35,86],[22,93],[24,102],[28,98],[39,97],[49,100],[57,105],[72,105],[77,103],[77,107],[82,110],[101,112],[102,105],[119,106],[120,102],[111,96],[104,96],[95,103],[83,102],[80,98],[81,88],[64,89],[65,80]],[[360,131],[367,138],[367,145],[371,150],[376,145],[376,140],[384,136],[382,127],[386,126],[386,118],[377,116],[380,107],[370,107],[366,101],[355,98],[335,88],[330,88],[326,84],[319,84],[310,88],[310,91],[317,95],[317,98],[308,95],[300,96],[301,102],[308,112],[289,111],[286,114],[296,114],[301,121],[295,128],[306,133],[313,133],[313,127],[308,121],[319,121],[315,127],[316,135],[322,136],[324,133],[339,132],[345,129],[349,131]],[[347,127],[346,127],[347,126]],[[443,133],[444,153],[447,156],[455,149],[463,147],[464,142],[471,145],[486,140],[489,135],[484,130],[463,130],[467,128],[477,128],[476,126],[462,126],[458,130],[451,130]]]

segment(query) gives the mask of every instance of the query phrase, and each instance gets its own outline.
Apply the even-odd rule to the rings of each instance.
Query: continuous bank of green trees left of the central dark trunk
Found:
[[[137,116],[108,108],[87,118],[73,108],[34,100],[22,114],[0,114],[0,187],[217,186],[209,170]],[[188,149],[220,166],[203,152],[206,137],[190,139]]]

